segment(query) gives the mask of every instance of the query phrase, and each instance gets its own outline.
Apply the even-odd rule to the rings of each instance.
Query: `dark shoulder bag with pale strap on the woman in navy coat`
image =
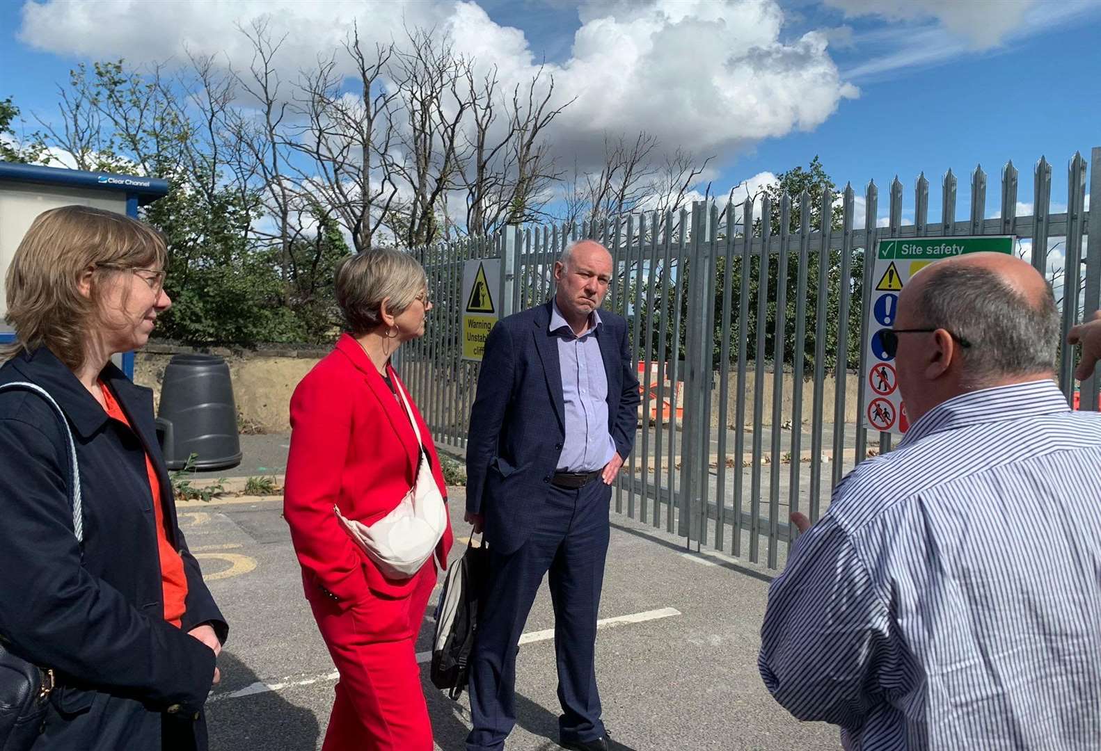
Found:
[[[84,515],[80,505],[80,471],[76,463],[76,444],[65,413],[53,397],[40,386],[25,382],[3,384],[0,389],[26,388],[51,404],[61,418],[68,439],[69,486],[72,490],[73,531],[84,542]],[[9,650],[8,640],[0,637],[0,751],[24,751],[34,746],[46,719],[50,694],[54,689],[54,672],[39,667]]]

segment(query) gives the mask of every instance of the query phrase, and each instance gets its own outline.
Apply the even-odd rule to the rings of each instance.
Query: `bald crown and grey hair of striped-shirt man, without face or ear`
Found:
[[[928,266],[903,289],[898,308],[907,325],[944,329],[967,342],[962,377],[971,388],[1054,373],[1055,298],[1036,269],[1012,255],[973,253]]]

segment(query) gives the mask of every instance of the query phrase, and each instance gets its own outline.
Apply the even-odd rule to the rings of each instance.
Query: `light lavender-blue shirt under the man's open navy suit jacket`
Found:
[[[549,331],[558,339],[566,421],[559,472],[602,470],[615,455],[615,442],[608,431],[608,374],[597,341],[599,327],[600,313],[593,310],[589,330],[576,336],[558,303],[552,301]]]

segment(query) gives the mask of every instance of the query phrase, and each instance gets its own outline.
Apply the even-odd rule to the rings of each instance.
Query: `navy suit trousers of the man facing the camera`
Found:
[[[558,731],[564,741],[604,735],[597,692],[597,610],[608,554],[611,487],[550,487],[531,537],[506,555],[490,548],[470,665],[468,751],[499,751],[516,722],[517,642],[544,574],[549,573],[558,663]]]

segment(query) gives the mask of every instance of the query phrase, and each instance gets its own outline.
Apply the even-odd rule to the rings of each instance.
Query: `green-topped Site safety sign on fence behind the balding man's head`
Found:
[[[906,405],[898,389],[894,357],[883,345],[883,332],[895,327],[898,295],[915,274],[938,261],[964,253],[1012,253],[1014,235],[971,235],[961,238],[890,238],[875,244],[872,267],[871,305],[865,311],[864,342],[868,369],[863,374],[863,424],[884,433],[905,433],[909,429]],[[915,345],[903,340],[900,346]]]

